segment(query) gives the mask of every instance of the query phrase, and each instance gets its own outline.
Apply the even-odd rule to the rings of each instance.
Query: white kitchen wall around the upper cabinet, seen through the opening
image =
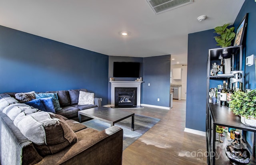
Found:
[[[173,68],[182,68],[181,69],[181,80],[174,80],[172,78],[172,83],[175,85],[181,85],[181,99],[186,100],[187,92],[187,65],[171,65],[171,72]]]

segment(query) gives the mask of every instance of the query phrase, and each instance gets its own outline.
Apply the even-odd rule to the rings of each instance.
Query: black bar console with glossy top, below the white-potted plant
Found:
[[[256,137],[256,128],[242,124],[240,117],[234,115],[226,106],[220,106],[220,104],[217,103],[208,103],[208,111],[208,122],[211,124],[208,123],[207,125],[211,127],[207,127],[206,141],[208,145],[208,152],[212,151],[212,153],[215,153],[208,157],[208,165],[232,165],[232,162],[228,159],[225,153],[225,146],[230,143],[228,141],[228,139],[230,139],[230,135],[224,132],[223,134],[225,137],[220,138],[224,142],[216,142],[216,139],[218,139],[218,133],[215,132],[216,126],[239,129],[242,130],[244,134],[246,134],[246,131],[254,132],[254,137]],[[213,143],[211,143],[211,141]],[[255,151],[256,146],[254,141],[250,163],[248,165],[256,165]]]

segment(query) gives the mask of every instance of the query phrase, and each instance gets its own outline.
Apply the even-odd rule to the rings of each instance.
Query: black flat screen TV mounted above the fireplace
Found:
[[[139,77],[140,63],[114,62],[113,77]]]

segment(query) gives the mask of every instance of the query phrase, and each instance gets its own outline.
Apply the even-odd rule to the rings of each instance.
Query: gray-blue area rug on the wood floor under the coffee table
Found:
[[[152,128],[160,119],[152,118],[143,115],[134,115],[134,131],[132,131],[132,117],[122,120],[115,124],[115,126],[121,127],[124,130],[123,137],[123,150],[136,141],[140,136],[145,134],[150,128]],[[100,120],[92,119],[87,122],[83,122],[88,128],[94,128],[95,130],[105,130],[110,127],[110,124],[102,122]]]

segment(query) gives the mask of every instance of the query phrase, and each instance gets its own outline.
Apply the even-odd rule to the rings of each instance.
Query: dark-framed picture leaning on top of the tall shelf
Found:
[[[243,41],[243,37],[244,37],[244,31],[247,27],[247,22],[248,22],[248,13],[246,13],[242,22],[240,23],[240,25],[237,28],[236,38],[235,38],[235,41],[234,41],[234,46],[242,45],[242,41]]]

